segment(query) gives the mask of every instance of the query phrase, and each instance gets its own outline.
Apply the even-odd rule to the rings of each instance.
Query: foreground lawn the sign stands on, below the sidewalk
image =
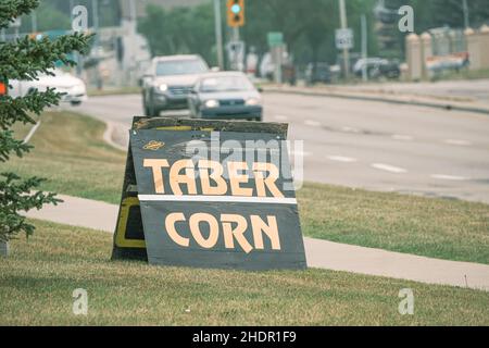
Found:
[[[110,261],[112,236],[35,222],[0,260],[0,325],[489,325],[489,293],[342,272]],[[87,316],[72,312],[88,291]],[[400,315],[411,288],[414,315]],[[188,311],[189,310],[189,311]]]

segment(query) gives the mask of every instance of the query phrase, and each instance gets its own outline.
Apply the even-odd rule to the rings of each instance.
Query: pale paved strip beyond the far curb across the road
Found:
[[[489,80],[318,85],[314,87],[268,85],[264,86],[264,90],[410,104],[489,115]]]

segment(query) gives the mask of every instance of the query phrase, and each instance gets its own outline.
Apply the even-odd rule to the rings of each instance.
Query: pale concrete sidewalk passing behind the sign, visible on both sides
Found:
[[[118,207],[60,196],[64,203],[32,211],[28,217],[113,233]],[[311,268],[442,284],[489,291],[489,265],[429,259],[399,252],[304,238]]]

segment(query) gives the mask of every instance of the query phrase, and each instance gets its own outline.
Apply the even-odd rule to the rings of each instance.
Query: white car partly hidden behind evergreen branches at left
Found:
[[[64,94],[61,97],[62,102],[79,105],[87,100],[87,87],[83,79],[58,69],[53,70],[52,73],[54,76],[38,75],[37,80],[10,80],[9,95],[13,98],[24,97],[32,90],[45,91],[49,87],[54,88],[57,92]]]

